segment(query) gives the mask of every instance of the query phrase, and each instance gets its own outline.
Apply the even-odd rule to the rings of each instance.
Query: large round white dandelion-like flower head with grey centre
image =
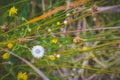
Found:
[[[45,50],[42,46],[34,46],[31,52],[35,58],[41,58],[44,56]]]

